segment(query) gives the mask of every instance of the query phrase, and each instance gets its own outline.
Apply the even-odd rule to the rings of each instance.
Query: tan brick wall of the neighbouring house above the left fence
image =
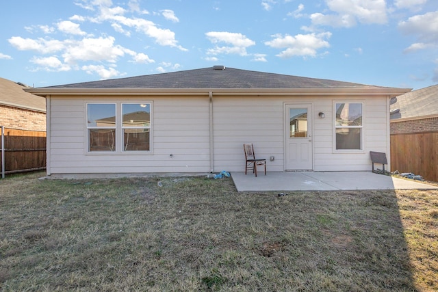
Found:
[[[46,131],[46,114],[0,105],[0,126],[21,130]]]

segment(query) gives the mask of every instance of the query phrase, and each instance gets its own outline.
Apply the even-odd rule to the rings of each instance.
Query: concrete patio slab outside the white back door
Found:
[[[237,191],[337,191],[359,189],[438,189],[420,181],[373,172],[231,173]]]

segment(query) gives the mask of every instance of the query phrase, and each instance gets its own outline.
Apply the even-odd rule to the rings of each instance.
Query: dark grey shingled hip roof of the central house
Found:
[[[168,72],[155,75],[142,75],[138,77],[128,77],[120,79],[109,79],[84,83],[73,83],[66,85],[56,85],[45,88],[35,88],[28,90],[34,94],[50,94],[55,92],[95,92],[98,90],[143,90],[143,91],[186,91],[189,90],[229,90],[230,92],[244,92],[254,90],[389,90],[396,91],[398,94],[409,92],[410,90],[400,88],[385,88],[374,85],[363,85],[334,81],[328,79],[314,79],[307,77],[296,77],[267,72],[257,72],[241,70],[235,68],[225,68],[224,66],[214,66],[194,70],[184,70],[179,72]]]

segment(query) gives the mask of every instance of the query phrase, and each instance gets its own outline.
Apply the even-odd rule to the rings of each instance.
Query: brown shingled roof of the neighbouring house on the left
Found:
[[[25,92],[24,88],[26,87],[14,81],[0,78],[0,105],[45,113],[46,99]]]

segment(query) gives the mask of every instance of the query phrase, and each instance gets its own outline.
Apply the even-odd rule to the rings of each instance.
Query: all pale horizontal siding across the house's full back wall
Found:
[[[387,152],[389,157],[389,108],[385,96],[213,94],[212,101],[214,172],[244,172],[244,143],[253,143],[257,157],[268,160],[268,172],[283,172],[286,103],[312,105],[313,170],[371,170],[370,150]],[[335,101],[364,104],[362,151],[334,150]],[[151,102],[151,152],[87,152],[86,103],[90,102]],[[51,174],[207,173],[211,169],[208,96],[52,96],[49,110]],[[320,111],[324,112],[324,119],[318,117]],[[120,148],[120,142],[117,146]],[[274,161],[269,160],[271,156]]]

